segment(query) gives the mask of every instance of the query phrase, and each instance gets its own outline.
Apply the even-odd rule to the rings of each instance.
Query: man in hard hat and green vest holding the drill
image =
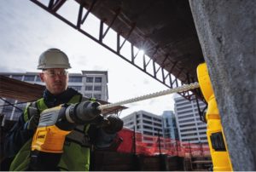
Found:
[[[32,137],[38,128],[40,113],[51,107],[83,100],[79,92],[67,87],[68,68],[71,66],[67,54],[60,49],[48,49],[40,55],[38,69],[42,72],[39,76],[46,89],[41,99],[26,106],[18,123],[7,135],[4,154],[11,163],[9,170],[89,170],[90,147],[110,146],[116,132],[122,128],[121,119],[113,115],[108,117],[114,122],[112,126],[99,127],[96,123],[80,125],[67,135],[61,157],[45,153],[36,163],[31,163]]]

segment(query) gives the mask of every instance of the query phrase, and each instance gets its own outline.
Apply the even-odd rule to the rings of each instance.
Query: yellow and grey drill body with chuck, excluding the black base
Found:
[[[83,101],[44,110],[33,136],[32,151],[61,153],[66,135],[76,125],[92,123],[96,118],[101,117],[101,111],[97,106],[99,106],[97,102]]]

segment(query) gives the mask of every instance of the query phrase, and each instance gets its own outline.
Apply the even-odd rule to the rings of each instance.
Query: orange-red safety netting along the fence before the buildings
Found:
[[[117,149],[118,152],[133,152],[149,156],[167,154],[179,157],[210,155],[207,144],[192,144],[170,138],[143,135],[130,129],[122,129],[118,135],[123,140]]]

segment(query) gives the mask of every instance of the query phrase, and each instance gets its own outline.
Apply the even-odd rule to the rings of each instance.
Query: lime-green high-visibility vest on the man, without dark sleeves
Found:
[[[68,103],[77,103],[82,99],[82,95],[74,95]],[[41,113],[45,109],[49,108],[44,103],[44,98],[33,102],[29,106],[26,106],[26,110],[23,113],[25,121],[28,121],[32,117],[29,107],[36,107],[38,112]],[[87,131],[90,125],[81,125],[76,127],[69,135],[67,135],[61,160],[56,169],[72,170],[72,171],[88,171],[90,167],[90,144]],[[28,169],[30,163],[32,138],[26,141],[26,144],[21,147],[18,154],[15,156],[14,161],[11,163],[10,170],[19,171]]]

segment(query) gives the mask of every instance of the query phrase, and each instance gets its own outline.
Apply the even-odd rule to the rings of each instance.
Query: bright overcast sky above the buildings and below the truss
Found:
[[[73,12],[78,10],[73,10],[72,6],[73,3],[61,12],[70,14],[71,18],[76,17]],[[90,26],[88,31],[94,34],[98,32],[98,23],[93,16],[90,19],[87,21]],[[46,49],[57,48],[68,55],[73,67],[69,72],[108,71],[109,102],[168,89],[30,1],[1,0],[0,23],[0,72],[39,72],[36,69],[38,56]],[[112,43],[111,37],[108,41]],[[161,115],[163,111],[173,110],[173,96],[165,95],[125,105],[129,109],[123,111],[121,117],[139,110]]]

